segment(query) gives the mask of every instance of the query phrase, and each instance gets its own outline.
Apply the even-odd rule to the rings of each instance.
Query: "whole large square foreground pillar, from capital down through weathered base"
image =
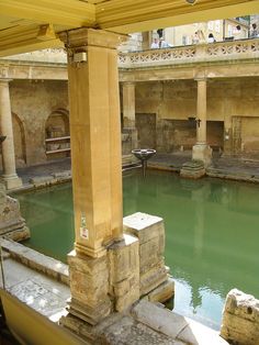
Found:
[[[60,38],[68,51],[76,233],[68,256],[71,301],[63,323],[72,330],[75,322],[94,325],[138,299],[139,256],[138,241],[123,235],[116,51],[123,37],[83,27]]]

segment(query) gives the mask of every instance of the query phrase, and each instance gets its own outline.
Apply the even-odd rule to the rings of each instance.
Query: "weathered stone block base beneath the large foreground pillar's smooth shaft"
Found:
[[[100,258],[72,251],[68,255],[72,298],[68,303],[69,314],[60,324],[92,338],[99,322],[136,302],[139,299],[138,248],[138,240],[124,234]]]

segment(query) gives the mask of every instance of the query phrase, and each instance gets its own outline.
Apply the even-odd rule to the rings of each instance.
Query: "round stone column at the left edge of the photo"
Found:
[[[18,177],[15,170],[15,154],[13,143],[12,112],[9,93],[8,79],[0,80],[0,127],[1,135],[7,136],[2,143],[2,179],[7,189],[19,188],[22,180]]]

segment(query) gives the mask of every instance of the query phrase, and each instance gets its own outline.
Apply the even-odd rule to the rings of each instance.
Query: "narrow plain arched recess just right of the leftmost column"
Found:
[[[18,114],[12,113],[13,142],[15,152],[16,167],[24,167],[26,165],[26,143],[23,121]]]

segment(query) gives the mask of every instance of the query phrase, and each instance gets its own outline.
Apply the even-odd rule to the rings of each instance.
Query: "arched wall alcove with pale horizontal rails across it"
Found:
[[[58,159],[70,155],[70,134],[68,112],[54,111],[46,121],[45,143],[47,159]]]

